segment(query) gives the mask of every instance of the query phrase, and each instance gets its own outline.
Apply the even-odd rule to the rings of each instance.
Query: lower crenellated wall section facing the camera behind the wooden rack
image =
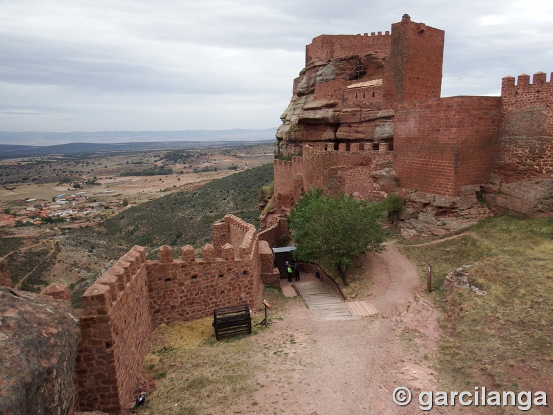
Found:
[[[232,214],[216,223],[220,256],[206,244],[202,258],[194,248],[181,249],[173,259],[169,246],[160,248],[160,260],[147,262],[148,293],[154,327],[189,322],[212,315],[214,308],[249,304],[255,308],[261,295],[261,265],[254,225]],[[225,238],[226,239],[223,239]],[[231,243],[232,242],[232,243]]]

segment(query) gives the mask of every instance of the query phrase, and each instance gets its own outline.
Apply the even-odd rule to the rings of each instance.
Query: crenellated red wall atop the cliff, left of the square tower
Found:
[[[306,65],[312,60],[326,61],[337,57],[368,53],[389,53],[390,33],[386,31],[362,35],[321,35],[306,46]]]

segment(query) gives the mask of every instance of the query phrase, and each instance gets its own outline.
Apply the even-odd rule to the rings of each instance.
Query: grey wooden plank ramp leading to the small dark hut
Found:
[[[299,282],[293,286],[306,302],[313,320],[356,320],[360,318],[357,315],[352,315],[346,303],[320,281]]]

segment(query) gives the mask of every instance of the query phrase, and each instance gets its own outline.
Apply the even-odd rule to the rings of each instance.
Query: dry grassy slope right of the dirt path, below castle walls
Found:
[[[552,391],[552,219],[496,216],[471,235],[402,251],[422,278],[424,264],[433,265],[434,288],[451,270],[471,263],[469,279],[488,292],[433,293],[443,310],[438,363],[451,387]]]

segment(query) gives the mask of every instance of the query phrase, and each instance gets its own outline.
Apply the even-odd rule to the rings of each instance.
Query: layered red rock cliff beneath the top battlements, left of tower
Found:
[[[275,156],[295,156],[303,144],[391,140],[393,111],[382,111],[385,59],[382,53],[369,53],[308,62],[281,115]]]

